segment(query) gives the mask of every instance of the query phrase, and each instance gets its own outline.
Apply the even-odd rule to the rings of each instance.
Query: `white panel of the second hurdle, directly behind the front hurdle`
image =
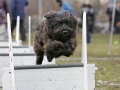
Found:
[[[48,62],[46,63],[46,61],[45,62],[44,61],[42,63],[43,65],[48,64]],[[49,62],[49,64],[55,64],[55,60]],[[15,66],[36,65],[36,56],[32,53],[14,54],[14,65]],[[0,87],[2,86],[1,83],[2,67],[9,67],[9,54],[3,54],[3,55],[0,54]]]

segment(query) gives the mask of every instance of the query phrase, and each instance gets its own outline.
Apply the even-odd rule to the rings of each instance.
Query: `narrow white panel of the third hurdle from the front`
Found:
[[[33,47],[13,47],[13,53],[33,53]],[[9,53],[8,47],[0,47],[0,54],[1,53]]]

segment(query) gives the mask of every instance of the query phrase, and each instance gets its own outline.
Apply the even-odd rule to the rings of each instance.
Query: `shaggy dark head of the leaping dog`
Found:
[[[44,17],[47,33],[54,40],[66,41],[75,37],[77,20],[68,11],[51,11]]]

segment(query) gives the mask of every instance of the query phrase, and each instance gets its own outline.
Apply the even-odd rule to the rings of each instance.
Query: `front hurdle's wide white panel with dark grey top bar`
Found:
[[[3,90],[12,90],[11,71],[2,77]],[[95,88],[95,65],[88,65],[88,88]],[[16,90],[84,90],[83,64],[15,67]]]

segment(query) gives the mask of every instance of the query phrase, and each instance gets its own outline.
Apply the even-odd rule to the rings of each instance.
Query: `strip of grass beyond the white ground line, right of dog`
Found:
[[[91,43],[88,44],[88,57],[119,57],[120,56],[120,35],[114,35],[112,54],[108,55],[109,35],[94,34],[91,36]],[[75,57],[81,55],[81,35],[77,36],[78,47]],[[114,44],[117,41],[117,44]]]

